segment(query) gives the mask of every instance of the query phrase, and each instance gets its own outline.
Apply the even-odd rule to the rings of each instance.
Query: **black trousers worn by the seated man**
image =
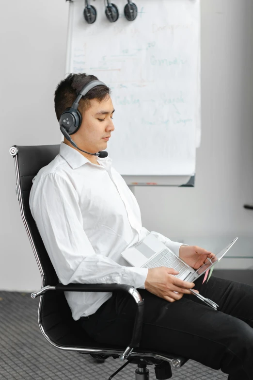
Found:
[[[253,380],[253,286],[204,275],[194,281],[201,295],[218,310],[194,295],[168,302],[144,289],[140,347],[182,355],[213,369],[229,380]],[[97,342],[126,346],[136,313],[134,299],[115,292],[95,314],[81,317],[81,326]]]

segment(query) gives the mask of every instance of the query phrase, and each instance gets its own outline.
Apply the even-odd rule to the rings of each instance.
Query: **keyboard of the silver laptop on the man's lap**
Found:
[[[155,268],[158,266],[167,266],[168,268],[174,268],[179,273],[175,277],[180,277],[184,272],[189,270],[188,266],[184,264],[177,256],[165,248],[156,257],[150,260],[148,263],[142,266],[142,268]]]

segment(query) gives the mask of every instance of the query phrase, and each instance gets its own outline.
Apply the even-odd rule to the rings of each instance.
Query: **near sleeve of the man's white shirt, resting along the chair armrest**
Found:
[[[147,268],[117,264],[97,254],[85,231],[73,184],[56,173],[42,177],[30,197],[30,209],[59,281],[119,283],[144,289]]]

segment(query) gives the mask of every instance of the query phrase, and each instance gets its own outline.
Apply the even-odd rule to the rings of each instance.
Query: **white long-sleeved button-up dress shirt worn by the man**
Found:
[[[30,209],[60,282],[119,283],[144,289],[147,268],[121,256],[150,233],[111,158],[91,163],[61,142],[60,153],[33,178]],[[182,243],[151,231],[178,256]],[[111,292],[64,292],[72,316],[94,314]]]

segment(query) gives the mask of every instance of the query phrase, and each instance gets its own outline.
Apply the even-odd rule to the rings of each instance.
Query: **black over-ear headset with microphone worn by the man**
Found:
[[[60,124],[61,132],[66,137],[66,139],[71,142],[71,144],[75,148],[81,150],[84,153],[92,154],[94,156],[107,157],[108,153],[105,150],[99,151],[98,153],[89,153],[89,152],[86,152],[85,150],[78,148],[77,144],[70,137],[70,134],[74,134],[79,130],[80,125],[82,123],[82,116],[78,110],[80,99],[83,96],[85,96],[87,94],[87,92],[89,92],[93,87],[100,86],[100,85],[106,86],[105,83],[100,82],[100,81],[91,81],[88,84],[86,84],[81,89],[81,91],[79,91],[78,96],[74,100],[72,106],[66,108],[65,111],[62,113],[60,120],[59,120],[59,124]]]

